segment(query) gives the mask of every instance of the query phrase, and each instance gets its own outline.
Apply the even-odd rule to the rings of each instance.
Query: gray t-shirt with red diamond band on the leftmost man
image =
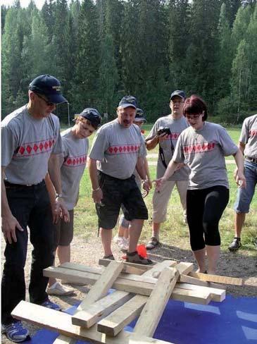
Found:
[[[1,166],[6,167],[9,183],[40,183],[46,176],[50,154],[61,152],[59,120],[53,113],[35,119],[25,105],[1,122]]]

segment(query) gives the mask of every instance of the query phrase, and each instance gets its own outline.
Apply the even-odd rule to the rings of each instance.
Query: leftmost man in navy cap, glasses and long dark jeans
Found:
[[[6,262],[1,283],[2,332],[13,342],[29,333],[11,311],[25,300],[24,266],[27,255],[27,226],[33,245],[30,301],[51,309],[61,308],[46,294],[48,278],[43,269],[54,262],[54,227],[44,178],[48,167],[56,190],[56,211],[68,217],[62,201],[58,154],[62,152],[60,125],[52,113],[56,104],[67,102],[60,82],[39,75],[29,86],[29,102],[1,122],[2,231],[6,240]]]

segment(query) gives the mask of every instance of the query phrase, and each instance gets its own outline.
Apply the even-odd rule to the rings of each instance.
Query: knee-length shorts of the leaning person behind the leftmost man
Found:
[[[70,222],[65,222],[59,219],[54,226],[54,248],[58,246],[68,246],[73,241],[73,219],[74,210],[69,210]]]

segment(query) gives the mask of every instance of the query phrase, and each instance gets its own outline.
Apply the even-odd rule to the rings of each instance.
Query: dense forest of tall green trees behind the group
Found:
[[[115,116],[132,94],[153,122],[176,89],[199,94],[223,122],[257,111],[256,0],[46,0],[41,10],[15,1],[1,6],[1,27],[2,117],[45,73],[61,80],[71,114]]]

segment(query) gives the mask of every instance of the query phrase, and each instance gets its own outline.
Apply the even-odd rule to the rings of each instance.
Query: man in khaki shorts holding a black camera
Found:
[[[146,137],[147,149],[151,150],[154,149],[156,145],[159,145],[156,178],[161,178],[164,175],[173,157],[177,139],[180,133],[188,127],[187,120],[184,118],[182,112],[185,97],[184,91],[181,90],[175,90],[170,95],[171,113],[168,116],[158,118],[151,132]],[[184,212],[184,222],[187,222],[186,197],[189,169],[184,166],[184,164],[181,166],[182,167],[169,178],[168,182],[165,184],[165,188],[158,192],[155,190],[153,193],[152,235],[146,245],[147,250],[152,250],[160,243],[159,233],[161,223],[166,219],[168,202],[175,185],[180,195],[180,202]]]

